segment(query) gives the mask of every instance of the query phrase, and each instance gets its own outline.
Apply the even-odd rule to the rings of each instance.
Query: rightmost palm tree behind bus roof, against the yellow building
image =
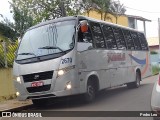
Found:
[[[110,11],[116,18],[116,24],[118,22],[118,17],[121,15],[124,15],[126,12],[126,9],[123,4],[120,3],[120,1],[113,1],[110,5]]]

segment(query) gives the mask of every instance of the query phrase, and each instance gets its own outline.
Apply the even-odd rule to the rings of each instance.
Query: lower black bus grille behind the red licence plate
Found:
[[[34,93],[34,92],[42,92],[42,91],[49,91],[51,88],[51,85],[43,85],[40,87],[28,87],[27,91],[29,93]]]

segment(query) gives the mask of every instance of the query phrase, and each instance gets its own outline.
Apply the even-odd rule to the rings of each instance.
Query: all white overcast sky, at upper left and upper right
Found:
[[[1,0],[0,14],[13,21],[8,1]],[[146,22],[147,37],[158,37],[158,17],[160,18],[160,0],[120,0],[126,6],[126,14],[137,15],[152,20]],[[1,19],[0,19],[1,20]],[[138,30],[143,31],[142,22],[138,22]]]

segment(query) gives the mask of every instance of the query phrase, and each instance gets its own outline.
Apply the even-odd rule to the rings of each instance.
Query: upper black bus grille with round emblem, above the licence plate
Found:
[[[52,77],[53,77],[53,71],[47,71],[47,72],[23,75],[23,80],[24,82],[33,82],[38,80],[52,79]]]

